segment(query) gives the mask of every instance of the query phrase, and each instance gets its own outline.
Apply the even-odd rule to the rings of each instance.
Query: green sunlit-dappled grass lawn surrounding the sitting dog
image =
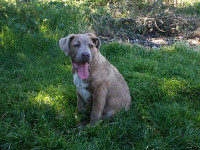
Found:
[[[132,107],[79,131],[70,59],[58,40],[86,30],[83,7],[0,2],[0,149],[200,148],[199,51],[182,43],[103,45],[130,87]]]

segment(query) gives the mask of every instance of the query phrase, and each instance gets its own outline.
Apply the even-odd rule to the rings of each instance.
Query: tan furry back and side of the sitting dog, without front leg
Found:
[[[96,57],[98,57],[98,61],[95,62],[95,66],[93,66],[95,69],[90,73],[90,85],[92,86],[91,92],[98,89],[99,85],[106,86],[107,94],[103,114],[106,115],[112,111],[114,115],[121,108],[128,110],[131,105],[131,96],[124,77],[100,53]]]

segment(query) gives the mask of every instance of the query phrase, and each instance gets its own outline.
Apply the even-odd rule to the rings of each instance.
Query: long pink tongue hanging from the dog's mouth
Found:
[[[87,79],[89,77],[88,63],[78,64],[78,75],[81,79]]]

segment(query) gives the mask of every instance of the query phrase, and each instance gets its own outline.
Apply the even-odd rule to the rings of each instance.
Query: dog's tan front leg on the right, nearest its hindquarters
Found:
[[[94,91],[92,113],[90,116],[91,125],[95,125],[101,118],[106,101],[106,95],[107,89],[105,86],[101,86]]]

